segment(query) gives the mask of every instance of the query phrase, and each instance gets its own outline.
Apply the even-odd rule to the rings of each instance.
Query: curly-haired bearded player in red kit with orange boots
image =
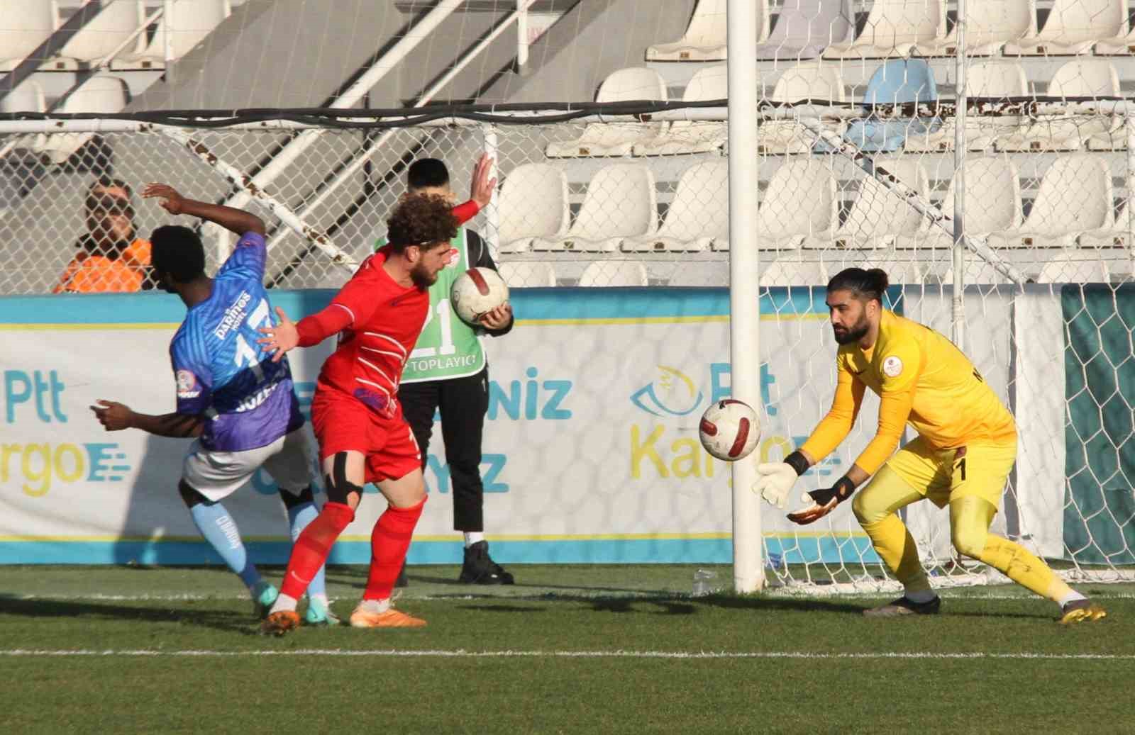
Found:
[[[390,607],[422,506],[421,454],[402,417],[398,381],[429,310],[429,286],[451,256],[457,219],[440,197],[410,196],[387,220],[389,243],[368,257],[327,309],[264,328],[274,358],[339,333],[311,404],[327,502],[296,539],[280,594],[262,630],[283,635],[300,625],[296,600],[354,519],[362,485],[373,482],[389,504],[371,533],[370,575],[351,615],[354,627],[415,627],[426,622]]]

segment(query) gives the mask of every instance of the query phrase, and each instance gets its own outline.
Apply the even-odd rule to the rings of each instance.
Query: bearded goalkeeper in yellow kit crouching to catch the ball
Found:
[[[849,268],[827,284],[827,309],[839,350],[835,398],[808,440],[783,462],[762,464],[754,492],[783,508],[799,475],[850,432],[866,388],[880,397],[878,429],[850,471],[831,488],[805,493],[789,519],[808,524],[851,497],[872,546],[902,583],[903,595],[864,610],[869,617],[933,615],[941,607],[897,510],[927,498],[950,507],[950,538],[962,555],[999,569],[1060,606],[1060,623],[1099,620],[1107,612],[1022,546],[989,532],[1017,456],[1012,415],[950,340],[883,309],[886,273]],[[910,423],[918,438],[891,456]],[[874,475],[874,476],[873,476]]]

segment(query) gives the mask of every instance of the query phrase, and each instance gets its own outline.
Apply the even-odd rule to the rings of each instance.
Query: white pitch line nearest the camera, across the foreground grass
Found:
[[[1129,661],[1135,660],[1135,653],[985,653],[985,652],[932,652],[932,651],[893,651],[865,653],[810,653],[807,651],[466,651],[455,650],[381,650],[352,651],[343,649],[289,649],[285,651],[155,651],[150,649],[108,649],[108,650],[52,650],[52,649],[9,649],[0,650],[6,657],[182,657],[182,658],[239,658],[272,656],[327,656],[347,658],[625,658],[625,659],[804,659],[804,660],[983,660],[983,659],[1020,659],[1020,660],[1091,660],[1091,661]]]

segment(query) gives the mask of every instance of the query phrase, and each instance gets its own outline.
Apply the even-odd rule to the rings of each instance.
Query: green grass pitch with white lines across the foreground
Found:
[[[885,598],[690,598],[693,566],[412,567],[420,630],[258,634],[216,568],[0,568],[7,733],[1132,732],[1135,586],[1069,628],[1007,585],[938,617]],[[728,567],[717,568],[728,581]],[[280,571],[270,569],[270,578]],[[362,567],[329,572],[346,617]]]

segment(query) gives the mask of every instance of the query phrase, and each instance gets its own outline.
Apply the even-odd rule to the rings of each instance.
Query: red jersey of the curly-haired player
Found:
[[[304,347],[327,337],[328,328],[342,329],[317,387],[354,396],[384,417],[397,413],[402,369],[429,311],[428,289],[400,286],[382,268],[388,253],[384,247],[364,260],[326,310],[296,324]],[[321,314],[337,323],[329,327]]]

